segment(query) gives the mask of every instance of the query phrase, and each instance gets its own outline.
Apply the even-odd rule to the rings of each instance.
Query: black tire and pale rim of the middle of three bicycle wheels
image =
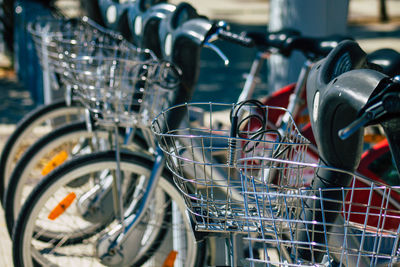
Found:
[[[29,191],[26,192],[26,185],[32,186],[42,179],[44,175],[40,171],[43,169],[43,165],[51,162],[51,159],[59,154],[60,151],[65,151],[66,146],[68,148],[68,146],[71,146],[70,144],[83,141],[83,138],[85,140],[91,139],[94,136],[107,139],[108,132],[97,129],[94,132],[89,132],[85,122],[71,123],[43,136],[26,150],[10,176],[3,199],[4,215],[10,235],[18,211],[24,201],[23,195],[29,193]],[[68,151],[68,158],[65,160],[71,157],[70,152]],[[57,164],[61,164],[61,162]]]

